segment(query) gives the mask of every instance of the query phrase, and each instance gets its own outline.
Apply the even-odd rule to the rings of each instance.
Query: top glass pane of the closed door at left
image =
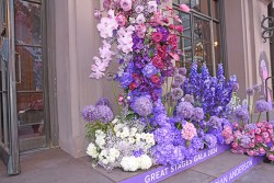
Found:
[[[18,44],[42,45],[41,5],[15,1],[15,41]]]

